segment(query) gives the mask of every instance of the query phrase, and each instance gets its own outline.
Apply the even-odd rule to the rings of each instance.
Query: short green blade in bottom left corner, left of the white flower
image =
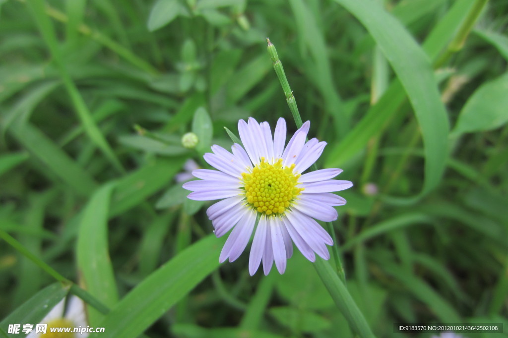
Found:
[[[14,310],[9,316],[0,322],[0,329],[8,331],[9,324],[38,324],[41,320],[62,300],[69,291],[68,286],[61,283],[53,283],[23,303],[19,308]],[[19,337],[21,334],[11,333],[8,337]]]

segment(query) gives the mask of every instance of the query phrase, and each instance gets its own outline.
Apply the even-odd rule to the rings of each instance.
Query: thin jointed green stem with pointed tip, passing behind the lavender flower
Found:
[[[296,126],[297,128],[300,128],[303,124],[302,118],[300,117],[300,113],[298,112],[298,107],[296,105],[295,96],[293,96],[293,91],[291,90],[288,79],[285,76],[284,69],[282,67],[282,62],[280,62],[279,56],[277,55],[277,50],[275,49],[275,46],[270,42],[270,39],[267,38],[266,41],[268,42],[268,54],[270,54],[270,58],[273,61],[273,69],[275,70],[275,73],[279,78],[280,85],[282,86],[282,90],[284,91],[284,95],[286,97],[286,101],[288,102],[289,109],[291,110],[293,118],[295,119]],[[312,171],[317,170],[317,166],[315,163],[312,164],[311,170]],[[334,246],[332,246],[332,254],[335,260],[337,274],[339,275],[340,279],[343,282],[345,282],[345,273],[344,268],[342,266],[342,260],[340,259],[337,236],[335,235],[335,230],[333,229],[332,223],[327,222],[326,224],[328,228],[328,233],[330,233],[330,235],[332,236],[333,243],[335,244]]]

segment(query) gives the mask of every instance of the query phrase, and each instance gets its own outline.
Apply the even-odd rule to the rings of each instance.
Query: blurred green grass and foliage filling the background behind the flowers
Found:
[[[352,336],[299,252],[282,276],[249,277],[246,253],[219,266],[209,204],[175,181],[187,159],[205,167],[211,144],[229,147],[238,119],[296,130],[270,37],[309,135],[328,143],[318,166],[355,183],[334,227],[372,332],[506,331],[508,3],[483,5],[0,1],[2,237],[102,303],[88,307],[98,337]],[[68,286],[0,243],[4,336]]]

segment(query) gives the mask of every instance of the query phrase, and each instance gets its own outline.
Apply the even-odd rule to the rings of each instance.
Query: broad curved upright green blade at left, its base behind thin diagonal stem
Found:
[[[93,194],[81,216],[76,247],[80,282],[107,307],[118,300],[113,267],[108,252],[108,213],[114,184],[106,184]],[[103,318],[88,307],[89,324],[97,325]]]

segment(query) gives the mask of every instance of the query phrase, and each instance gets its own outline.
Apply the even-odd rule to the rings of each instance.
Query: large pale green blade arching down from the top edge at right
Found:
[[[400,22],[377,3],[364,0],[336,2],[365,25],[392,65],[415,110],[425,147],[425,181],[418,196],[406,198],[407,202],[414,202],[438,185],[448,157],[448,116],[440,100],[432,67],[424,51]]]

